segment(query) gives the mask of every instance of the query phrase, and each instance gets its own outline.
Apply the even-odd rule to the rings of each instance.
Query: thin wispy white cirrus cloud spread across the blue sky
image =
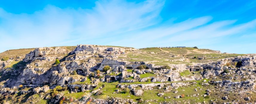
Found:
[[[255,20],[214,21],[212,16],[166,23],[165,1],[97,1],[92,9],[47,5],[32,14],[13,14],[0,8],[0,52],[8,49],[77,44],[120,45],[135,48],[198,46],[229,53],[253,53],[232,40],[254,37]],[[172,17],[170,17],[171,19]],[[243,34],[241,37],[229,36]],[[245,35],[248,34],[248,35]],[[226,41],[223,41],[227,39]],[[248,41],[250,44],[248,44]],[[253,46],[255,39],[241,42]],[[251,41],[251,42],[250,42]],[[243,48],[235,50],[233,47]]]

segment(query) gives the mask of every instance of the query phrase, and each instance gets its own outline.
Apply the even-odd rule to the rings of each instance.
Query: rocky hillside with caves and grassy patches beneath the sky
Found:
[[[256,54],[77,45],[0,59],[1,104],[256,103]]]

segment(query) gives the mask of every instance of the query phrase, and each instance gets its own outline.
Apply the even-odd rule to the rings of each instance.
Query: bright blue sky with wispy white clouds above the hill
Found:
[[[0,1],[0,52],[78,44],[256,53],[256,1]]]

